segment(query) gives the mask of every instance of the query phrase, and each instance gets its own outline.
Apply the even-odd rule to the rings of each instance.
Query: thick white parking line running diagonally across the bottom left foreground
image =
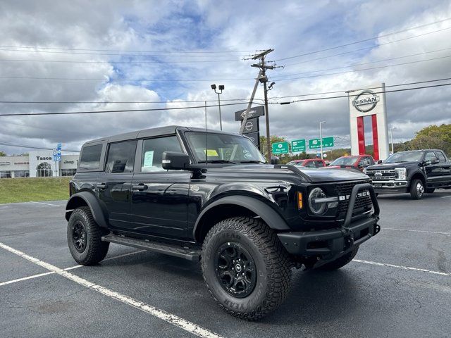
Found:
[[[93,289],[101,294],[104,294],[105,296],[109,296],[112,299],[121,301],[121,302],[123,302],[129,306],[132,306],[134,308],[137,308],[145,313],[154,315],[156,318],[165,320],[166,322],[168,322],[172,325],[175,325],[177,327],[180,327],[181,329],[183,329],[187,332],[195,334],[198,337],[222,338],[218,334],[211,332],[210,330],[206,330],[206,329],[204,329],[204,327],[194,324],[188,320],[180,318],[177,315],[173,315],[172,313],[168,313],[166,311],[160,310],[159,308],[155,308],[154,306],[151,306],[147,303],[143,303],[142,301],[137,301],[136,299],[132,299],[129,296],[125,296],[124,294],[114,292],[110,289],[107,289],[106,287],[102,287],[101,285],[89,282],[88,280],[85,280],[84,278],[78,277],[76,275],[73,275],[72,273],[68,273],[67,271],[65,271],[63,269],[57,268],[55,265],[45,263],[44,261],[40,261],[39,259],[32,257],[32,256],[28,256],[26,253],[23,253],[22,251],[13,249],[13,248],[11,248],[11,246],[7,246],[6,244],[3,244],[1,242],[0,242],[0,248],[8,250],[12,253],[15,253],[16,255],[18,255],[22,258],[25,258],[28,261],[35,263],[36,265],[42,266],[42,268],[46,268],[47,270],[49,270],[53,273],[56,273],[63,277],[66,277],[68,280],[72,280],[73,282],[75,282],[77,284],[80,284],[89,289]]]

